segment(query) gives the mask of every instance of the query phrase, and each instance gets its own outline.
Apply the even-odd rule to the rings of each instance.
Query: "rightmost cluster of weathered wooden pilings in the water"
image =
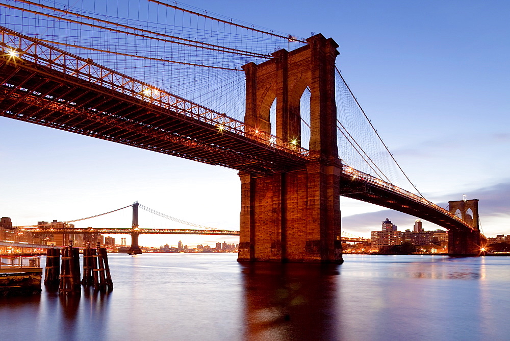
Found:
[[[105,248],[91,249],[90,245],[83,251],[83,279],[85,286],[94,285],[96,290],[113,290],[112,277]]]

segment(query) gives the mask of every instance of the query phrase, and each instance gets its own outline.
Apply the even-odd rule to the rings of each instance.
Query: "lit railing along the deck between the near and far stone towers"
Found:
[[[445,210],[444,208],[442,208],[434,203],[431,203],[430,201],[428,201],[422,197],[417,196],[416,194],[414,194],[412,192],[406,191],[405,189],[397,187],[397,186],[395,186],[391,183],[388,183],[386,181],[382,181],[381,179],[373,177],[370,174],[360,172],[357,169],[354,169],[352,167],[344,166],[342,168],[342,173],[351,177],[352,179],[356,179],[356,178],[363,179],[363,181],[366,183],[369,183],[371,185],[374,185],[374,186],[377,186],[380,188],[388,189],[394,193],[399,194],[400,196],[402,196],[404,198],[407,198],[407,199],[410,199],[416,203],[431,207],[431,208],[435,209],[436,211],[447,215],[448,217],[452,218],[453,220],[462,223],[467,228],[473,230],[473,227],[471,225],[469,225],[468,223],[463,221],[461,218],[459,218],[455,214]]]

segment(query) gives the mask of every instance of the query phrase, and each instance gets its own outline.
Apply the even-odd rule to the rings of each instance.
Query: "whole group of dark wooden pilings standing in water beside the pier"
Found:
[[[113,282],[108,265],[108,254],[105,248],[97,243],[97,248],[90,244],[83,251],[83,279],[80,281],[79,248],[69,246],[62,248],[62,266],[59,266],[60,249],[48,249],[46,256],[46,275],[44,284],[59,285],[59,294],[73,295],[81,293],[81,285],[94,286],[100,291],[112,291]],[[59,274],[60,269],[60,276]]]

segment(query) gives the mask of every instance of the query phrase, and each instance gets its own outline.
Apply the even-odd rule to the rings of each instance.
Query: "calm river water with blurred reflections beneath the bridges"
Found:
[[[2,298],[0,339],[510,339],[510,257],[236,258],[110,254],[112,293]]]

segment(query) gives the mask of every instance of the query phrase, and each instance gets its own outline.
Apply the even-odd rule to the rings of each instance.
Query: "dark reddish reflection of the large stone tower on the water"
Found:
[[[339,265],[242,264],[244,339],[335,339]]]

